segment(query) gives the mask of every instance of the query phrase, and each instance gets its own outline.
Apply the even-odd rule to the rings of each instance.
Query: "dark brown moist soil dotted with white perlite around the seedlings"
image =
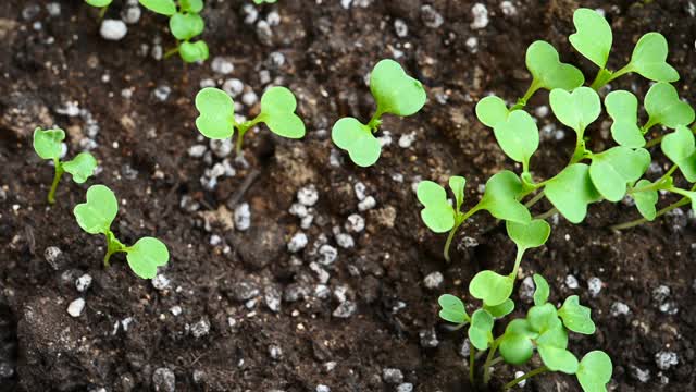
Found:
[[[604,7],[614,32],[610,68],[625,63],[642,34],[662,33],[682,76],[680,94],[696,99],[688,88],[696,81],[691,1],[513,1],[512,12],[502,12],[498,1],[481,2],[489,23],[474,29],[469,1],[366,0],[346,9],[341,3],[350,1],[281,0],[258,7],[257,22],[248,24],[246,2],[211,0],[203,12],[211,59],[185,65],[153,57],[159,45],[166,50],[173,41],[166,20],[151,12],[128,25],[124,39],[107,41],[97,10],[82,1],[59,1],[60,15],[49,13],[46,1],[2,1],[0,390],[173,391],[174,375],[177,391],[394,391],[398,384],[386,382],[383,370],[397,368],[415,391],[472,391],[461,355],[464,334],[438,319],[437,297],[451,293],[475,304],[469,280],[482,269],[509,270],[514,246],[502,225],[478,213],[455,238],[446,264],[445,235],[422,224],[413,185],[464,175],[473,206],[493,173],[519,172],[475,120],[475,102],[489,93],[508,101],[524,94],[524,53],[536,39],[551,42],[592,79],[596,69],[567,39],[581,5]],[[440,25],[425,5],[442,15]],[[123,8],[116,0],[105,17],[119,19]],[[258,26],[278,15],[271,34]],[[406,35],[397,35],[397,20]],[[215,57],[232,62],[232,73],[213,71]],[[383,58],[396,58],[422,81],[428,101],[413,117],[385,117],[380,135],[390,144],[377,164],[361,169],[335,150],[330,130],[340,117],[370,118],[374,102],[365,77]],[[207,148],[194,125],[192,100],[201,85],[229,78],[258,96],[269,84],[295,91],[304,139],[282,139],[261,127],[247,135],[243,158],[225,144]],[[631,75],[613,87],[643,97],[649,83]],[[545,105],[543,91],[529,106],[543,128],[532,162],[537,179],[557,173],[574,146],[572,131],[545,115]],[[248,94],[238,113],[258,110]],[[83,185],[66,175],[49,206],[52,168],[35,155],[30,135],[53,125],[66,130],[67,157],[89,148],[100,171]],[[593,150],[611,145],[608,125],[600,120],[588,130]],[[195,145],[207,149],[202,157],[189,152]],[[226,172],[211,182],[216,163]],[[648,176],[664,168],[658,158]],[[122,255],[105,269],[103,237],[77,226],[72,209],[97,183],[120,200],[112,228],[121,241],[152,235],[167,244],[171,260],[156,284],[135,277]],[[368,201],[359,199],[359,184]],[[303,229],[289,210],[298,191],[311,194],[312,186],[319,199]],[[534,212],[548,208],[539,203]],[[364,230],[347,225],[355,213]],[[540,273],[552,302],[577,294],[592,307],[597,333],[572,335],[570,348],[577,356],[595,348],[610,354],[610,390],[692,391],[696,223],[684,209],[637,229],[608,229],[636,217],[629,203],[602,203],[591,206],[582,224],[551,218],[551,237],[527,253],[520,282]],[[288,252],[300,232],[307,246]],[[336,234],[349,234],[353,246],[338,246]],[[61,254],[47,257],[49,247]],[[444,282],[426,287],[424,278],[436,271]],[[92,283],[80,293],[75,280],[85,273]],[[601,290],[591,295],[593,278]],[[523,294],[515,290],[511,316],[531,306]],[[66,309],[77,298],[86,306],[71,317]],[[618,304],[627,314],[612,313]],[[674,353],[678,364],[660,369],[658,353]],[[538,365],[534,359],[521,369]],[[515,370],[499,365],[493,390]],[[544,375],[524,390],[580,387],[573,377]]]

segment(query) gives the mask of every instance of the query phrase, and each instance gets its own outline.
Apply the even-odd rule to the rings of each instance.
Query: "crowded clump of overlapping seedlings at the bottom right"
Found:
[[[587,335],[595,333],[591,309],[580,304],[577,295],[566,298],[559,308],[554,306],[548,302],[549,285],[539,274],[533,277],[536,285],[534,306],[527,310],[525,317],[510,321],[502,334],[494,336],[493,328],[496,320],[514,309],[514,302],[510,299],[510,295],[524,252],[542,246],[550,232],[548,223],[543,220],[532,220],[525,224],[508,222],[507,230],[518,248],[514,267],[508,275],[481,271],[472,279],[469,293],[473,298],[482,301],[482,305],[469,316],[464,303],[457,296],[445,294],[438,299],[442,307],[440,318],[456,323],[458,329],[468,328],[471,384],[476,384],[476,351],[488,351],[481,367],[484,384],[489,383],[490,371],[496,364],[504,362],[521,366],[537,353],[543,366],[506,383],[504,390],[510,390],[520,382],[544,372],[560,371],[575,375],[585,392],[606,392],[606,384],[612,373],[609,356],[601,351],[593,351],[579,360],[568,350],[569,332]]]

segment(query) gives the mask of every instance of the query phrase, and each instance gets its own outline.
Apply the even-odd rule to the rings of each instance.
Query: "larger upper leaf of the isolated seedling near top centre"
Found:
[[[425,105],[427,99],[421,82],[403,72],[394,60],[380,61],[370,76],[370,90],[383,113],[411,115]]]

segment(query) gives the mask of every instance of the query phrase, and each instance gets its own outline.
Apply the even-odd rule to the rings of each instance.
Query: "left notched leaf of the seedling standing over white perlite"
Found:
[[[196,95],[196,109],[200,115],[196,127],[203,136],[224,139],[234,133],[235,105],[227,93],[206,87]]]

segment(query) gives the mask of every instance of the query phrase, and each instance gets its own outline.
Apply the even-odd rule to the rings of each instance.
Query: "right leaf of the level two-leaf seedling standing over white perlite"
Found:
[[[304,123],[295,114],[296,108],[293,91],[285,87],[271,87],[261,97],[260,118],[274,134],[301,138],[304,136]]]

